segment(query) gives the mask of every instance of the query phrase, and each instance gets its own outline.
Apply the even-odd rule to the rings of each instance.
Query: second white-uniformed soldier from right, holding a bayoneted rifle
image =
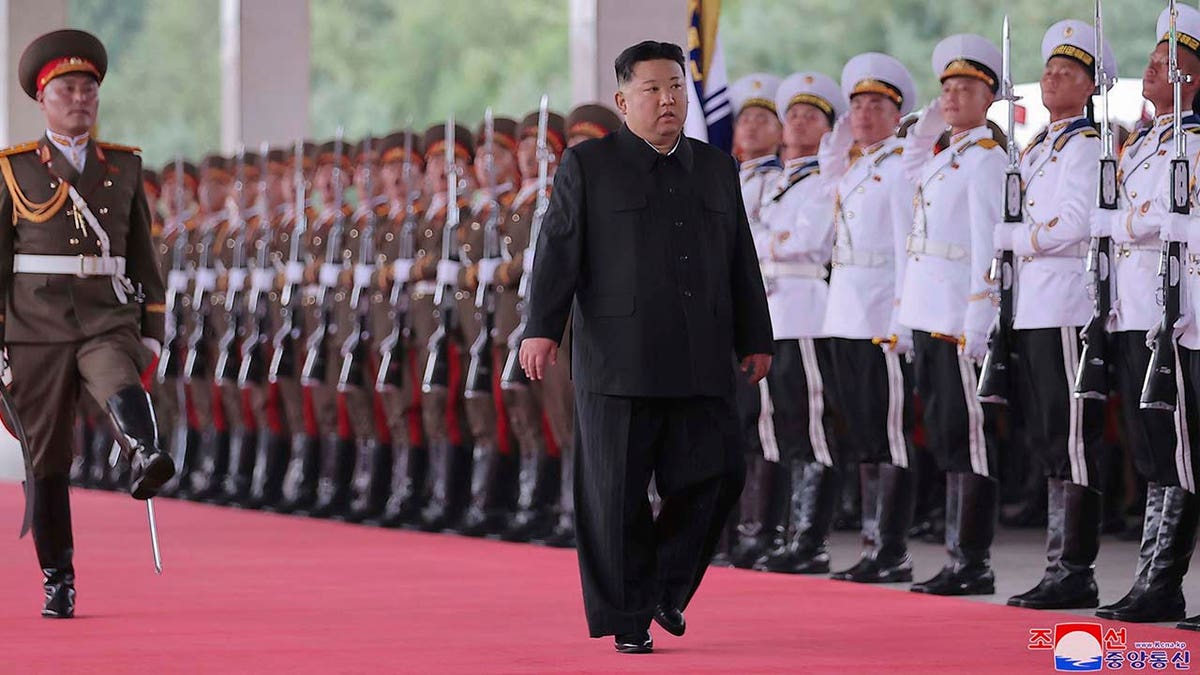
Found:
[[[1116,58],[1104,42],[1104,68]],[[1020,223],[997,223],[997,251],[1013,251],[1015,400],[1027,447],[1046,471],[1049,565],[1032,590],[1008,604],[1081,609],[1099,604],[1093,565],[1099,552],[1099,465],[1104,402],[1074,396],[1080,328],[1091,317],[1085,273],[1090,220],[1099,180],[1100,141],[1084,115],[1096,89],[1096,31],[1067,19],[1042,40],[1042,104],[1050,124],[1021,154]],[[1111,82],[1111,80],[1110,80]]]

